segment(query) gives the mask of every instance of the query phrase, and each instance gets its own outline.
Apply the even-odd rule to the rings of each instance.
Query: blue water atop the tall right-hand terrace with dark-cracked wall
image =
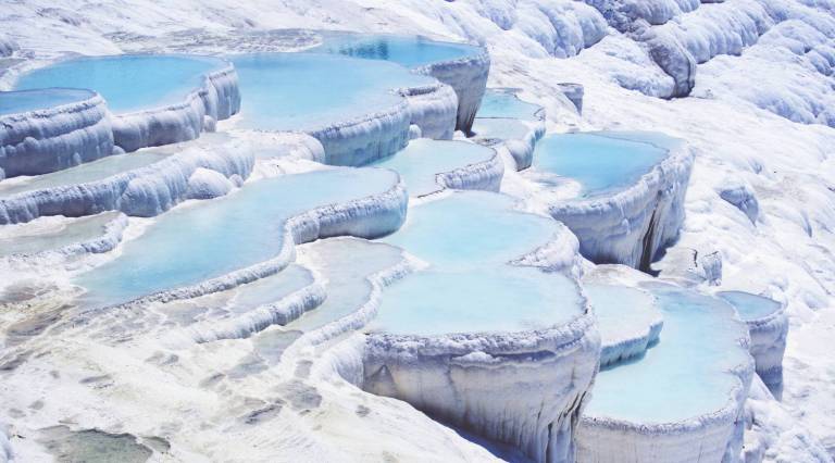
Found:
[[[669,153],[608,134],[549,135],[536,147],[534,168],[574,178],[583,186],[583,196],[598,196],[633,185]]]

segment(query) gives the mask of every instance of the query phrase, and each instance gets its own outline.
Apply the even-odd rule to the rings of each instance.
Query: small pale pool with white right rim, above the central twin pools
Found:
[[[372,166],[400,174],[412,197],[445,189],[498,191],[504,174],[499,154],[465,141],[419,138]]]

